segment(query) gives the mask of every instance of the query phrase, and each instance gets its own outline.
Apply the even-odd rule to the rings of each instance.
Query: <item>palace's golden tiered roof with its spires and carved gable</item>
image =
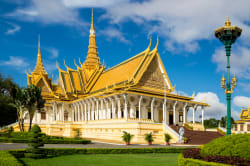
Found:
[[[131,93],[147,95],[151,97],[176,99],[179,101],[192,101],[192,97],[185,97],[172,94],[174,87],[168,78],[160,55],[157,43],[151,50],[151,39],[149,46],[141,53],[131,57],[124,62],[105,70],[98,57],[96,36],[93,20],[93,10],[91,16],[91,27],[89,35],[88,54],[84,63],[76,65],[72,69],[64,62],[66,70],[62,70],[58,65],[58,84],[52,84],[52,78],[48,78],[42,63],[40,50],[40,37],[38,45],[37,64],[34,72],[27,74],[28,84],[42,87],[43,97],[49,101],[71,102],[88,97],[109,96],[119,93]]]

